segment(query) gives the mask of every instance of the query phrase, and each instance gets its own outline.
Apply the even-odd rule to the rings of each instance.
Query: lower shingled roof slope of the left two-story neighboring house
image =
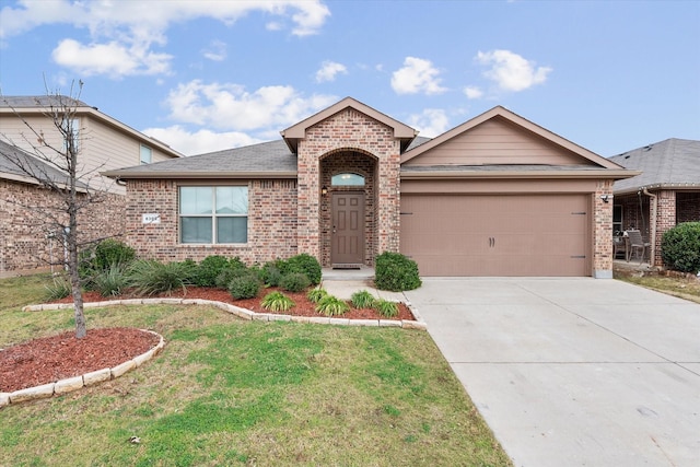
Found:
[[[69,185],[69,175],[52,165],[35,157],[28,152],[0,140],[0,178],[39,185],[39,179],[59,187]],[[79,190],[86,189],[85,184],[77,182]]]

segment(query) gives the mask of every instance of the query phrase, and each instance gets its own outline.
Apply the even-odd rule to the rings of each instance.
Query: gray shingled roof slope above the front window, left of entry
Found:
[[[103,172],[117,178],[296,178],[296,155],[269,141],[183,159]]]

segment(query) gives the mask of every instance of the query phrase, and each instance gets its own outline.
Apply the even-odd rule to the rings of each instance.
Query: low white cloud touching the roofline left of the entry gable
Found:
[[[142,133],[163,141],[185,155],[203,154],[261,142],[241,131],[214,132],[202,129],[190,132],[179,125],[167,128],[147,128]]]

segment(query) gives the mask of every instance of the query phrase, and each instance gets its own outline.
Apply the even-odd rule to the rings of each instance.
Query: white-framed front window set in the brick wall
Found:
[[[179,242],[247,243],[248,187],[179,187]]]

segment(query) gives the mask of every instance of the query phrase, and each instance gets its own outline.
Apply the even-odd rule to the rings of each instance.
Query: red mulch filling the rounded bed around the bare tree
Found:
[[[0,351],[0,392],[54,383],[114,367],[158,346],[160,338],[132,328],[89,329],[34,339]]]

